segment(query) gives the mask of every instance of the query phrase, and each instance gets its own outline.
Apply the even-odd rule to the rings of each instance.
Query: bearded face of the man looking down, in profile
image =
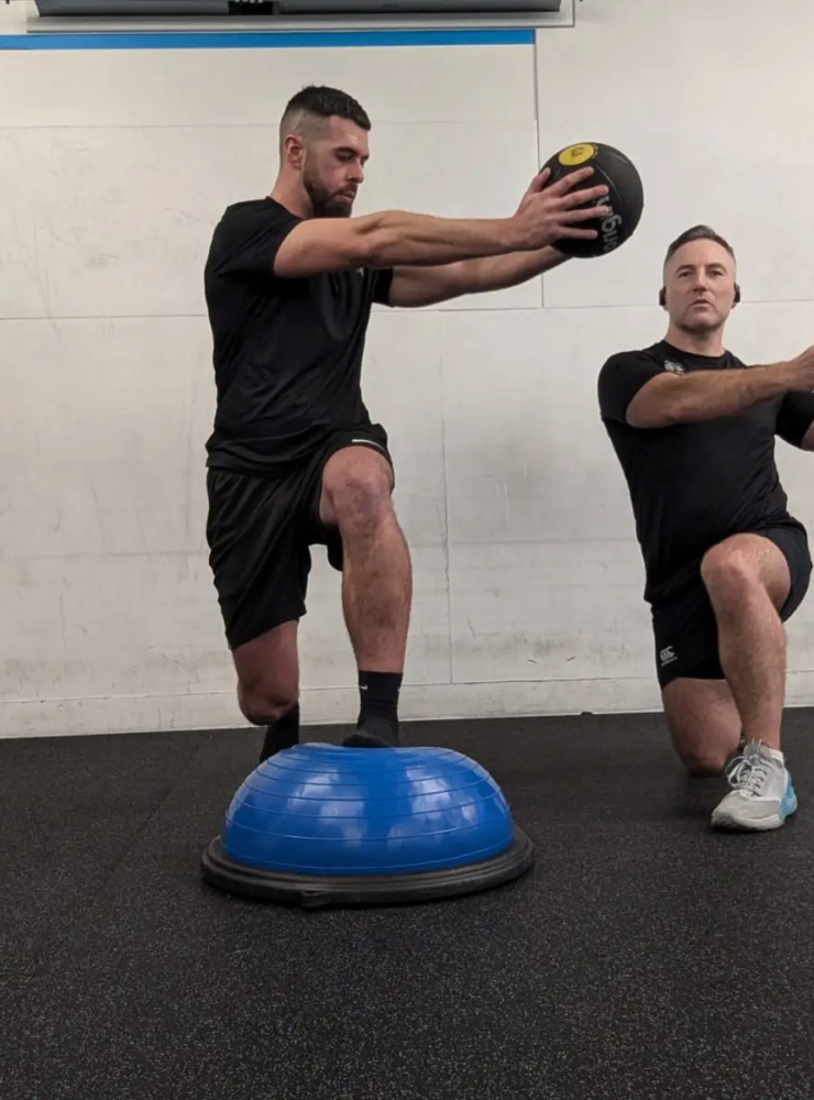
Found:
[[[345,119],[329,119],[308,141],[301,179],[315,218],[350,218],[369,156],[367,133]]]

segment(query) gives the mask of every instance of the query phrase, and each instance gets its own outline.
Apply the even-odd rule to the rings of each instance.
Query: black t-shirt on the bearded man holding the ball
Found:
[[[333,432],[370,424],[362,355],[393,272],[278,278],[274,260],[300,219],[271,198],[228,207],[205,271],[217,411],[207,464],[279,473]]]

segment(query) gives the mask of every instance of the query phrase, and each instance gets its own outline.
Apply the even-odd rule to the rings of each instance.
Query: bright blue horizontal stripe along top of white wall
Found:
[[[0,34],[0,50],[297,50],[359,46],[532,46],[534,30],[143,31]]]

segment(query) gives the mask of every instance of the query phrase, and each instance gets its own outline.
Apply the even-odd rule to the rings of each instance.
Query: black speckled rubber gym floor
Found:
[[[318,912],[199,878],[254,730],[0,740],[0,1096],[810,1100],[811,728],[796,818],[718,835],[658,715],[409,725],[493,773],[536,868]]]

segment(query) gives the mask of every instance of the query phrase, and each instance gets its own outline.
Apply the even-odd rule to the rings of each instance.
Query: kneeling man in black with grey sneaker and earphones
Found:
[[[774,438],[814,450],[814,349],[746,367],[724,348],[740,290],[708,227],[670,245],[663,283],[667,336],[604,364],[602,419],[630,493],[675,749],[693,774],[726,771],[713,825],[777,828],[798,806],[780,748],[783,624],[812,560]]]

